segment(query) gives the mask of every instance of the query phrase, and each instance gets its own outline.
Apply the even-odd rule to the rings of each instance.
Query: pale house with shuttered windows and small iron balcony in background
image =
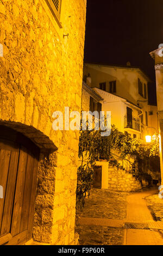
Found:
[[[157,107],[148,105],[151,80],[140,68],[85,64],[85,81],[88,74],[89,86],[104,99],[102,110],[111,111],[111,123],[118,130],[142,139],[158,131]]]

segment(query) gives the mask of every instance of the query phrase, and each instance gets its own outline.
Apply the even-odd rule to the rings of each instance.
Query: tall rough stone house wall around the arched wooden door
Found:
[[[44,0],[0,1],[0,120],[58,147],[40,155],[33,230],[36,241],[56,245],[74,240],[79,132],[54,131],[52,114],[81,110],[85,16],[85,0],[62,0],[59,28]]]

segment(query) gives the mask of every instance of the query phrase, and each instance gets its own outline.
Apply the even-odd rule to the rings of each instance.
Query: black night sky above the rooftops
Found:
[[[155,81],[149,52],[163,43],[163,0],[87,0],[87,63],[140,66]],[[155,82],[149,101],[156,102]]]

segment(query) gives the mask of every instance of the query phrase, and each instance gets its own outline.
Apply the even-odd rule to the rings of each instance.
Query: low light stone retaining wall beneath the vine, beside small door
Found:
[[[142,187],[140,181],[136,180],[132,174],[109,167],[108,188],[109,190],[131,192],[141,190]]]

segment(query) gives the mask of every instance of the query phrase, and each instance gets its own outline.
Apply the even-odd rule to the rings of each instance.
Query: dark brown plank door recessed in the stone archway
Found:
[[[0,245],[32,237],[39,148],[27,137],[0,126]]]

